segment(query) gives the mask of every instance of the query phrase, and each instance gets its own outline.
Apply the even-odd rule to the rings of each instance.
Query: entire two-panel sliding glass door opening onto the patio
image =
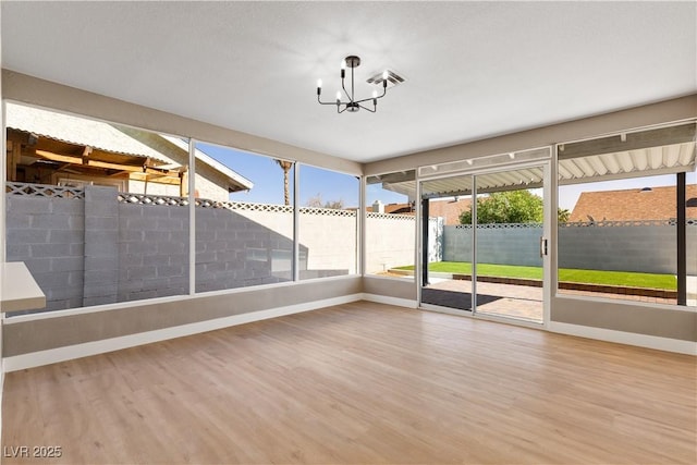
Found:
[[[548,178],[545,160],[420,181],[423,307],[545,321]]]

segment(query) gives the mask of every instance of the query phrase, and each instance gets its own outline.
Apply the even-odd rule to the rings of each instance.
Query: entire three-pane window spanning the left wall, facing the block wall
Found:
[[[357,273],[356,176],[5,108],[7,260],[47,301],[9,316]]]

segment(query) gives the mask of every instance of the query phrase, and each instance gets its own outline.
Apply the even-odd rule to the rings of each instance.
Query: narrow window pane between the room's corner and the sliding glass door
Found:
[[[415,196],[414,170],[366,179],[367,274],[414,279]]]

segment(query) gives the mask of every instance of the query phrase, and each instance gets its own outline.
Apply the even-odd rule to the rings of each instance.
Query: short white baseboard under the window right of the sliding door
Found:
[[[559,321],[550,321],[549,330],[561,334],[577,335],[580,338],[597,339],[600,341],[616,342],[620,344],[637,345],[639,347],[676,352],[678,354],[697,355],[697,342],[693,341],[681,341],[677,339],[570,325]]]

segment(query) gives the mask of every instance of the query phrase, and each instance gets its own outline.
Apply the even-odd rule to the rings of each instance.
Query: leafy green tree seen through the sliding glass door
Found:
[[[472,209],[460,215],[462,224],[472,224]],[[477,223],[541,223],[542,198],[528,191],[508,191],[477,198]]]

